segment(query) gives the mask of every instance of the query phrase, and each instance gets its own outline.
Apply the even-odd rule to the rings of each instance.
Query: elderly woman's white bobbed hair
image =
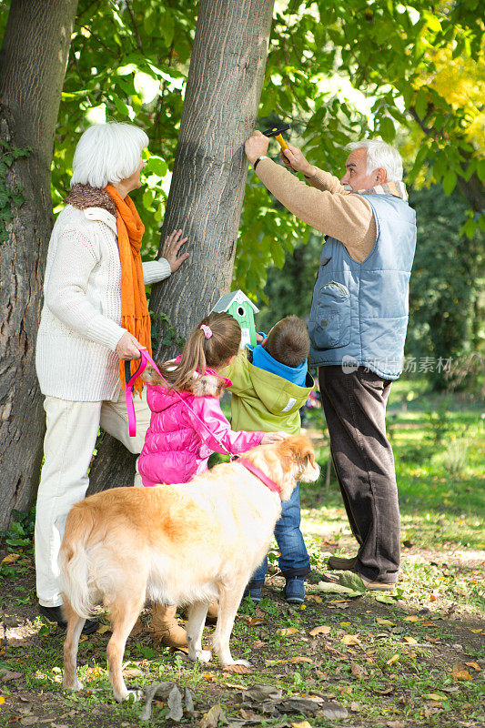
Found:
[[[71,187],[106,187],[130,177],[147,146],[147,135],[133,124],[109,121],[89,126],[77,142]]]

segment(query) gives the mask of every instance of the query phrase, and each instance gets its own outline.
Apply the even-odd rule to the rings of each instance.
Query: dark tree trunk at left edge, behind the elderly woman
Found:
[[[52,228],[50,165],[77,0],[12,0],[0,51],[0,195],[21,188],[24,204],[0,218],[0,528],[35,497],[45,417],[35,376],[44,265]],[[4,157],[5,159],[5,157]],[[8,209],[8,207],[4,207]]]

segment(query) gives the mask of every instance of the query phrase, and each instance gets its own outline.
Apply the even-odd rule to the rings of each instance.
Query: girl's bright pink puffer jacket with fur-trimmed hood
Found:
[[[194,379],[192,391],[175,393],[157,385],[162,380],[154,369],[146,371],[143,376],[151,381],[147,385],[147,402],[152,416],[138,460],[145,486],[184,483],[204,472],[209,455],[224,452],[217,440],[236,455],[254,448],[265,434],[231,430],[218,399],[231,381],[219,377],[217,372],[206,369],[203,377]]]

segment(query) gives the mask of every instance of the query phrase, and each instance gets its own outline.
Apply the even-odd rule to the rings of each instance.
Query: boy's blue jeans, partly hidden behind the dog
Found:
[[[281,518],[275,526],[275,536],[280,556],[278,566],[285,579],[291,576],[306,576],[311,570],[305,541],[299,530],[301,514],[299,509],[299,485],[291,493],[289,501],[281,503]],[[268,557],[254,572],[249,581],[253,587],[263,586],[268,571]]]

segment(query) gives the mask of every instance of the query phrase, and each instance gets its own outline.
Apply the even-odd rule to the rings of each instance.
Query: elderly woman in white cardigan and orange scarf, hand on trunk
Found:
[[[46,415],[35,569],[39,612],[61,627],[57,555],[67,513],[86,495],[100,426],[131,452],[143,447],[150,412],[136,396],[136,438],[130,438],[120,359],[151,350],[145,285],[167,278],[187,258],[178,255],[187,238],[174,230],[161,258],[141,261],[145,227],[129,193],[141,187],[147,145],[145,132],[130,124],[86,130],[47,254],[35,360]],[[96,627],[88,620],[83,632]]]

